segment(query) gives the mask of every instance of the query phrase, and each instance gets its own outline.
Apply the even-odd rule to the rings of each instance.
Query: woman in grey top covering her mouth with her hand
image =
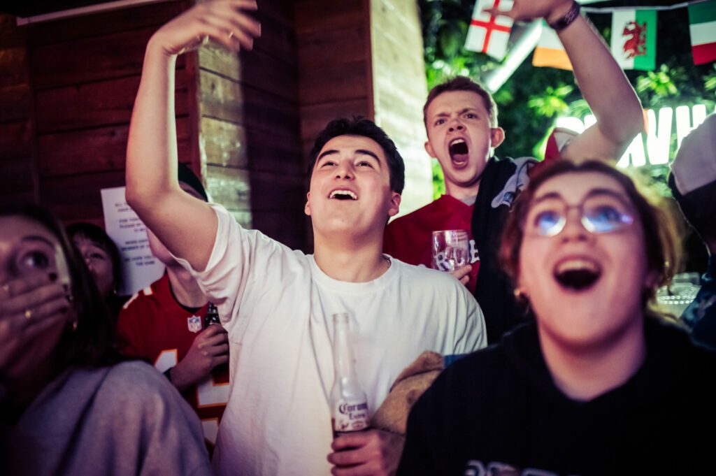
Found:
[[[211,475],[192,409],[113,342],[59,222],[0,209],[0,475]]]

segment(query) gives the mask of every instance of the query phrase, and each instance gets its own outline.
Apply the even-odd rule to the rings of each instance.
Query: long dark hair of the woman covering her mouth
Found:
[[[79,256],[77,248],[70,243],[59,220],[45,208],[24,205],[3,208],[0,216],[18,216],[39,223],[47,228],[62,248],[71,279],[72,305],[77,314],[77,328],[70,326],[64,331],[58,344],[58,362],[62,368],[69,366],[104,366],[121,359],[115,349],[115,322],[107,309],[105,300],[92,282],[92,275]]]

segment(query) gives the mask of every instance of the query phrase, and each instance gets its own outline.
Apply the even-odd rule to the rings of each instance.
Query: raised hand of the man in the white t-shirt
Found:
[[[209,39],[232,52],[252,49],[261,36],[261,24],[246,11],[256,11],[254,0],[214,0],[193,6],[162,26],[150,43],[169,56],[197,49]]]

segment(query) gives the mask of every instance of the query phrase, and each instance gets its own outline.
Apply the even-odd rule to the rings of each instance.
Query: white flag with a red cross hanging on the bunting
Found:
[[[494,16],[483,13],[483,9],[499,7],[500,10],[512,9],[513,0],[477,0],[470,21],[465,49],[471,52],[487,53],[496,59],[503,59],[507,53],[513,21],[508,16]]]

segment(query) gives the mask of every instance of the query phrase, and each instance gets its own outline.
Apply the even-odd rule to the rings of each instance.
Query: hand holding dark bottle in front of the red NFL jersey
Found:
[[[171,381],[183,392],[226,362],[228,334],[223,327],[212,324],[196,336],[184,358],[171,370]]]

